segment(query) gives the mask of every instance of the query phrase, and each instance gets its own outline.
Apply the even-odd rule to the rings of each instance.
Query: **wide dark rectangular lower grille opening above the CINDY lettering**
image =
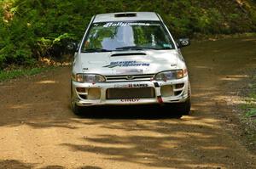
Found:
[[[108,88],[107,99],[149,99],[154,98],[154,87]]]

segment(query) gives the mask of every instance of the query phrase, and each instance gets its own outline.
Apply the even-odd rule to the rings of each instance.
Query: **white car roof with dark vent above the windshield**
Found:
[[[109,22],[109,21],[136,21],[136,20],[151,20],[159,21],[158,14],[154,12],[125,12],[125,13],[109,13],[96,14],[93,23]]]

